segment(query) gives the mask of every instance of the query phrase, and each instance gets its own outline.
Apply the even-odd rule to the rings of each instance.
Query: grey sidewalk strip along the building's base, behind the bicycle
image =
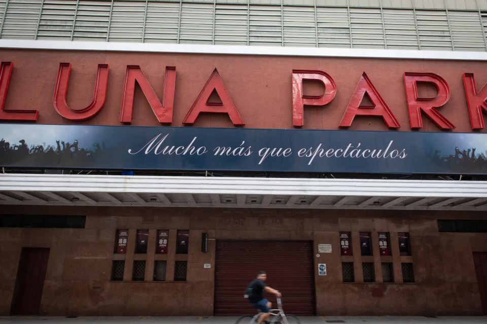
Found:
[[[5,316],[0,317],[1,324],[233,324],[235,316],[209,316],[209,317],[49,317],[49,316]],[[299,316],[301,324],[485,324],[487,316]]]

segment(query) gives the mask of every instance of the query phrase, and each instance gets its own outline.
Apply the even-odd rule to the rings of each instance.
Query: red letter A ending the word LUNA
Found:
[[[208,102],[213,91],[217,92],[222,103]],[[212,76],[210,76],[203,90],[201,90],[201,93],[198,95],[198,98],[196,98],[196,101],[184,118],[183,124],[193,124],[200,112],[227,113],[232,120],[233,125],[245,125],[242,117],[240,117],[240,114],[237,111],[237,107],[235,107],[232,98],[225,89],[217,69],[213,71]]]

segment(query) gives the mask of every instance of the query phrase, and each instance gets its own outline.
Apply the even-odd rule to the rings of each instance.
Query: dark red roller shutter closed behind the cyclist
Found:
[[[311,241],[217,241],[215,315],[255,314],[243,298],[258,271],[283,294],[284,311],[315,315],[315,277]],[[275,298],[266,297],[275,306]]]

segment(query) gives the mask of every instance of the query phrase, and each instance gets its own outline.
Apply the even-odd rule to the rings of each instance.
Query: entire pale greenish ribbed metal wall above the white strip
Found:
[[[484,0],[0,0],[0,19],[3,39],[447,51],[487,48]]]

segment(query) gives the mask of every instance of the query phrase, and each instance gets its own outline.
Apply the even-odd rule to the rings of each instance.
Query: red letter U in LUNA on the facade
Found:
[[[57,72],[56,87],[54,88],[54,109],[61,116],[69,120],[89,119],[96,115],[103,108],[103,105],[105,105],[105,99],[107,98],[108,64],[98,64],[93,100],[88,107],[83,109],[73,110],[67,106],[66,93],[69,84],[69,74],[71,74],[71,64],[60,63]]]

